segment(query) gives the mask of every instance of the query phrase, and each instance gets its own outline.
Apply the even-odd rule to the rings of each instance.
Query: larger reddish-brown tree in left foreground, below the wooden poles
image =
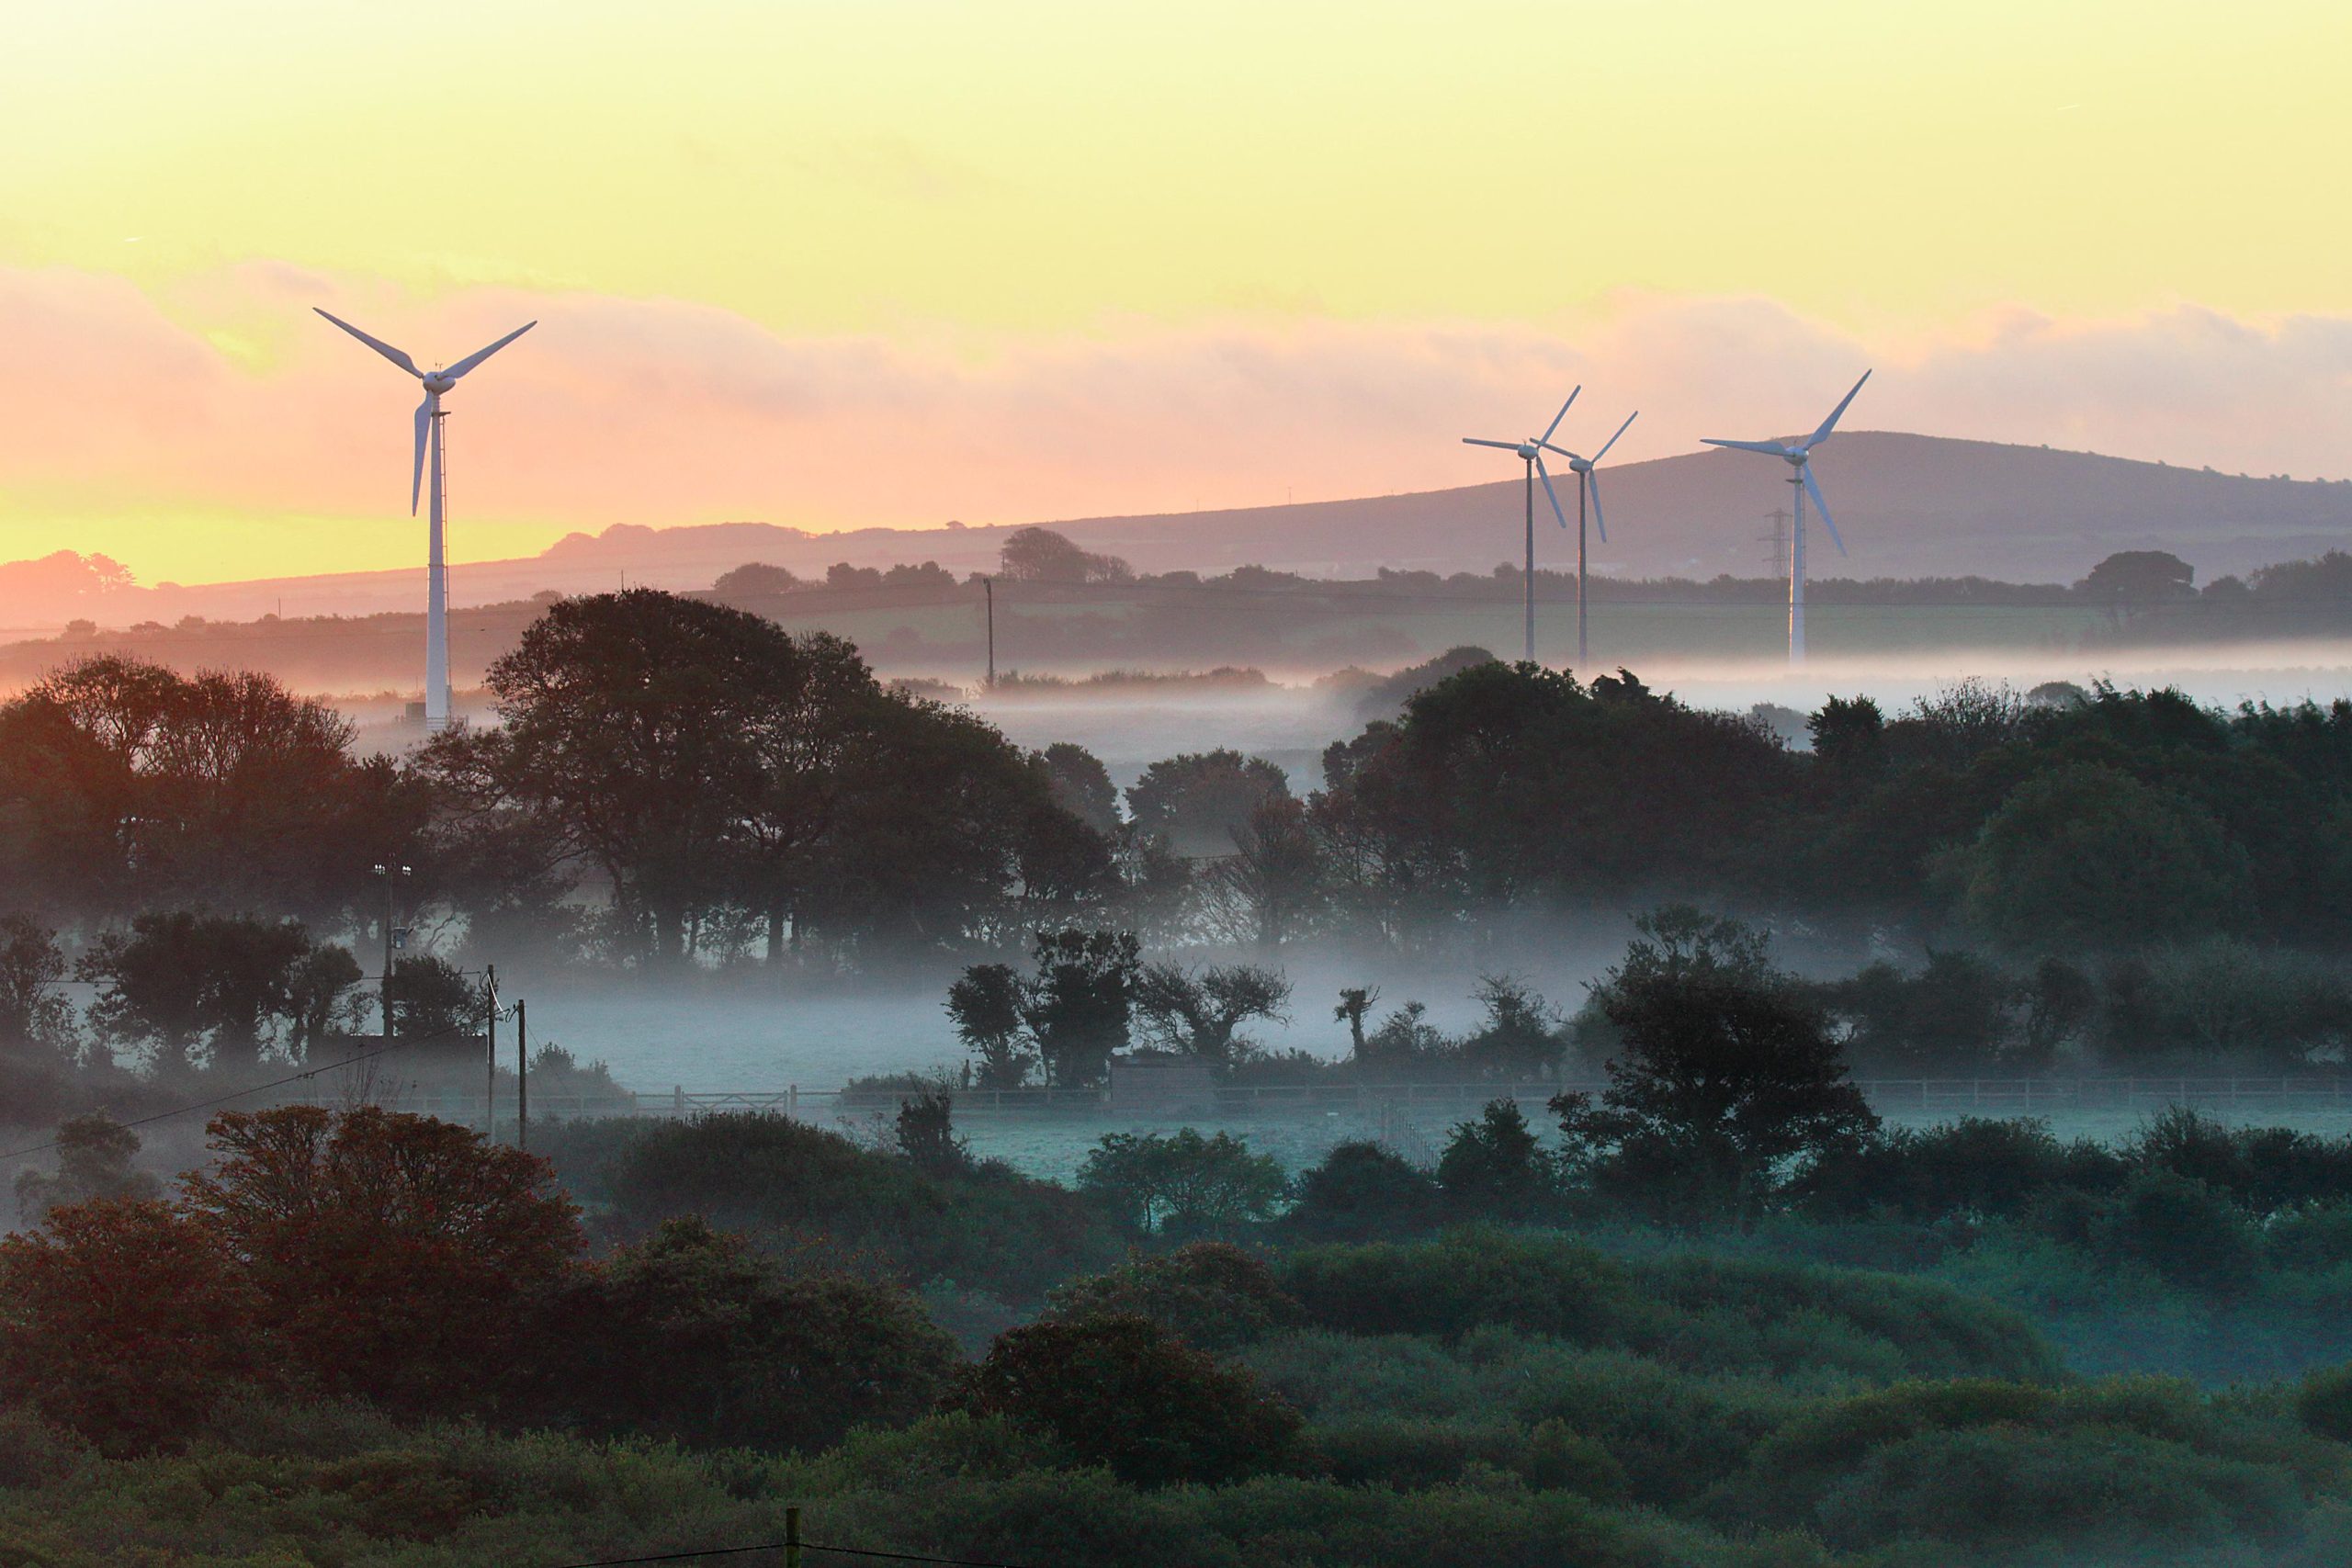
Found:
[[[480,1401],[529,1340],[529,1307],[581,1251],[543,1159],[376,1107],[287,1105],[207,1126],[191,1220],[259,1298],[313,1387],[400,1413]]]

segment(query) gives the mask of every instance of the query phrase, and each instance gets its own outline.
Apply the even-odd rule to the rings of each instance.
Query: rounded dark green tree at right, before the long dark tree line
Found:
[[[1959,912],[2023,950],[2103,950],[2239,926],[2246,853],[2199,804],[2093,762],[2034,773],[1952,856]]]

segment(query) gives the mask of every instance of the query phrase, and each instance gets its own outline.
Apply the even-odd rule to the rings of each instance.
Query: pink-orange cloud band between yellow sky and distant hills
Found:
[[[0,268],[0,341],[40,371],[0,381],[0,555],[108,550],[141,581],[320,567],[280,559],[266,527],[186,522],[226,515],[343,517],[343,564],[405,559],[414,383],[310,306],[419,362],[541,322],[449,400],[459,557],[609,522],[924,527],[1435,489],[1498,477],[1458,437],[1541,428],[1576,381],[1564,440],[1639,407],[1621,447],[1637,458],[1809,425],[1872,364],[1849,428],[2352,473],[2340,317],[2009,310],[1863,339],[1762,299],[1618,294],[1536,329],[1235,315],[786,339],[682,301],[416,301],[275,263],[162,301],[111,275]],[[315,541],[327,559],[341,548]]]

